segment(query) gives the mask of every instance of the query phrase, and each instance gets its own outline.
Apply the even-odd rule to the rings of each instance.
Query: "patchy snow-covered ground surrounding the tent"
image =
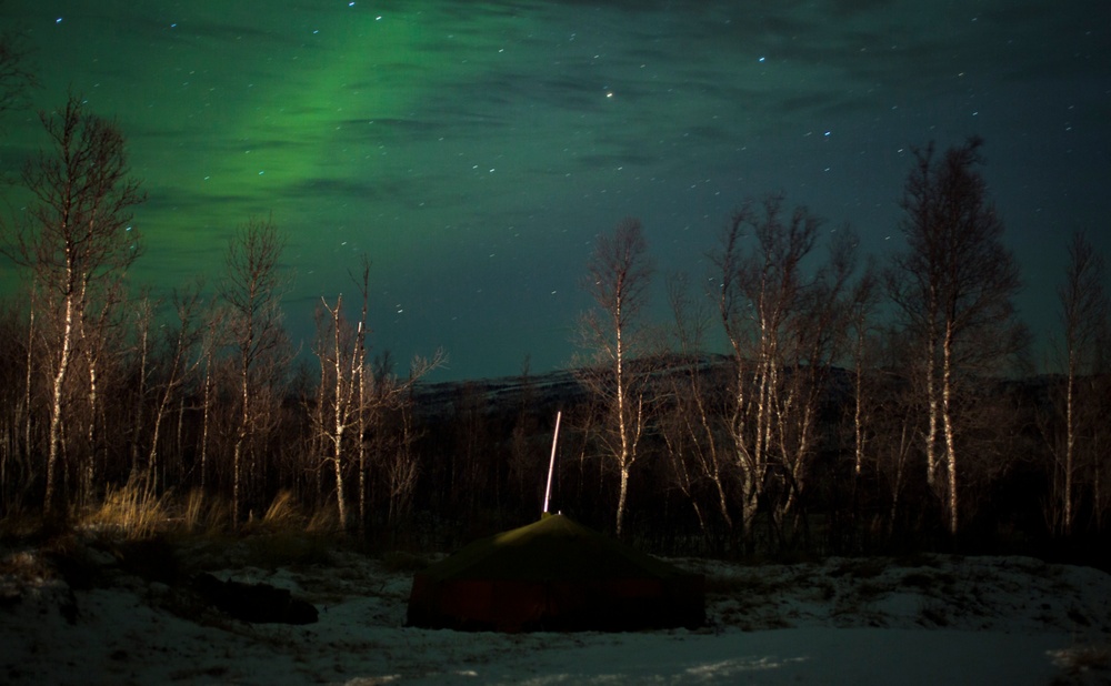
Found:
[[[273,564],[268,545],[194,542],[169,571],[104,545],[0,548],[0,683],[1111,682],[1111,575],[1025,557],[681,559],[708,577],[703,629],[509,635],[406,627],[396,559],[310,548]],[[174,565],[289,588],[319,622],[232,619],[158,581]]]

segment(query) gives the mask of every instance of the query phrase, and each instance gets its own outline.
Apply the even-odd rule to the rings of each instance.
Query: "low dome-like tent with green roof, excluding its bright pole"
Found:
[[[410,626],[634,630],[705,622],[704,577],[562,515],[482,538],[413,577]]]

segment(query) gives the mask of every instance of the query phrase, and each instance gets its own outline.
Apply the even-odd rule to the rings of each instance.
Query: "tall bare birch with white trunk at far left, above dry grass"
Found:
[[[40,119],[52,150],[24,167],[33,203],[14,228],[4,226],[14,234],[4,251],[33,271],[36,303],[58,322],[40,329],[53,332],[46,351],[51,381],[43,507],[49,512],[57,504],[70,365],[81,337],[96,335],[88,329],[91,307],[139,255],[131,208],[144,195],[129,176],[124,139],[113,122],[86,113],[76,95]]]

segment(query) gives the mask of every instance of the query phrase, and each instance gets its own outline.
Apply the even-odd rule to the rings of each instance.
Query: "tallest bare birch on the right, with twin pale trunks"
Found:
[[[1012,304],[1019,269],[974,169],[982,163],[981,144],[972,138],[941,159],[932,145],[915,151],[901,201],[908,249],[885,275],[902,325],[921,351],[927,476],[941,496],[951,534],[960,528],[962,394],[999,372],[1027,337]]]

